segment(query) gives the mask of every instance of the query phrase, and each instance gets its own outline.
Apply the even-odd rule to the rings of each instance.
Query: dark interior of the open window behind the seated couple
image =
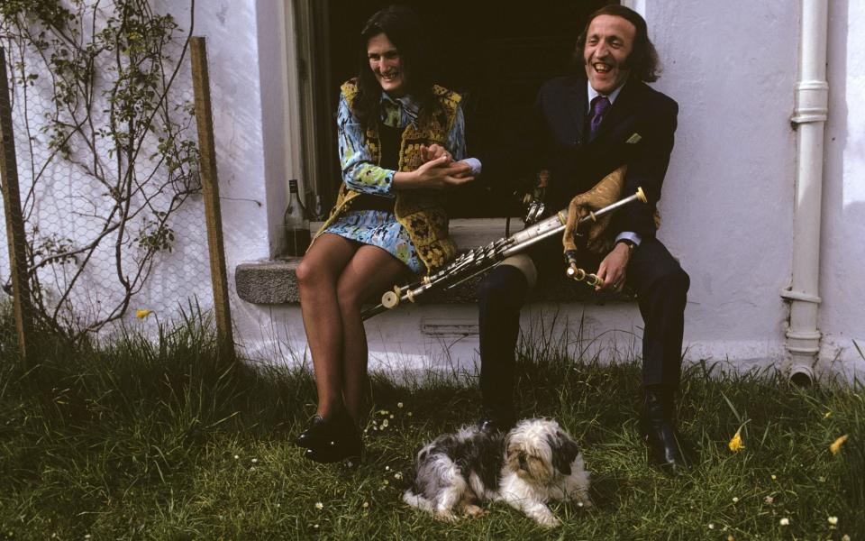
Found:
[[[442,86],[465,98],[469,156],[480,145],[498,142],[514,119],[524,113],[543,81],[569,73],[578,33],[587,15],[617,2],[609,0],[533,0],[503,3],[491,0],[406,0],[420,14],[432,41],[432,55]],[[357,73],[358,36],[370,14],[393,4],[380,0],[332,0],[330,38],[330,118],[342,81]],[[332,149],[335,136],[330,137]],[[335,156],[335,150],[332,151]],[[322,168],[328,170],[328,168]],[[323,192],[339,186],[339,164],[325,173]],[[496,179],[487,179],[495,182]],[[325,188],[325,187],[322,187]],[[522,206],[509,194],[479,186],[459,188],[449,197],[452,217],[521,215]]]

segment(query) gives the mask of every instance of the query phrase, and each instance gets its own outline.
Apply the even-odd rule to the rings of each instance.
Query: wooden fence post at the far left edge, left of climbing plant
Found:
[[[27,280],[27,256],[24,246],[24,219],[21,212],[21,191],[18,188],[18,163],[12,128],[12,100],[6,72],[6,54],[0,47],[0,179],[3,180],[3,203],[6,216],[6,239],[9,243],[9,267],[12,274],[15,330],[18,347],[25,366],[31,368],[33,322],[30,304],[30,283]]]

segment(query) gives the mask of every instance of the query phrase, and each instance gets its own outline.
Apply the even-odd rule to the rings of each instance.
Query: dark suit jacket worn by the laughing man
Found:
[[[589,138],[587,81],[584,75],[554,78],[541,87],[533,114],[521,131],[516,151],[481,160],[484,174],[508,179],[542,168],[551,172],[545,192],[548,211],[568,206],[607,174],[627,164],[623,197],[642,187],[648,205],[634,203],[614,215],[612,233],[655,234],[655,205],[673,150],[678,105],[645,83],[629,80]]]

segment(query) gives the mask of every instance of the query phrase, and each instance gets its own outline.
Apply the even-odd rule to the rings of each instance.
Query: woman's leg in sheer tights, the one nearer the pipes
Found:
[[[363,245],[342,271],[337,298],[342,317],[342,398],[356,423],[363,417],[367,381],[367,334],[360,307],[376,294],[392,288],[405,264],[378,246]]]

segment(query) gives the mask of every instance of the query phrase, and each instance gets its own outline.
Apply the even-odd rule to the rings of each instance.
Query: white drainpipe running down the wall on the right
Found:
[[[799,45],[796,205],[793,211],[792,286],[781,292],[790,301],[787,328],[788,376],[796,382],[814,380],[820,352],[817,308],[820,271],[820,206],[823,188],[824,124],[828,112],[826,82],[828,5],[825,0],[802,0]]]

